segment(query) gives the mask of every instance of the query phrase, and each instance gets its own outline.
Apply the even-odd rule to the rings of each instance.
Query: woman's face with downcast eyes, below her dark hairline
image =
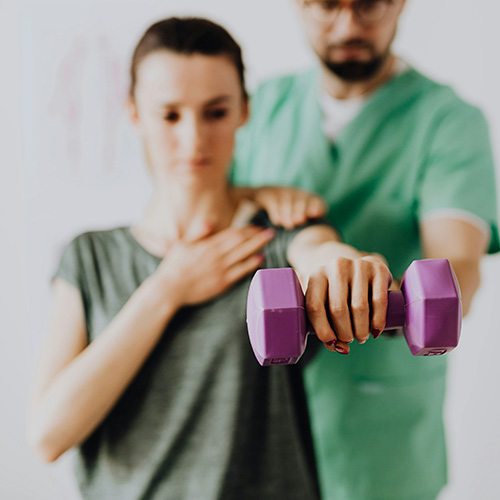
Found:
[[[158,182],[225,182],[246,120],[238,72],[225,56],[161,50],[137,68],[130,115]]]

